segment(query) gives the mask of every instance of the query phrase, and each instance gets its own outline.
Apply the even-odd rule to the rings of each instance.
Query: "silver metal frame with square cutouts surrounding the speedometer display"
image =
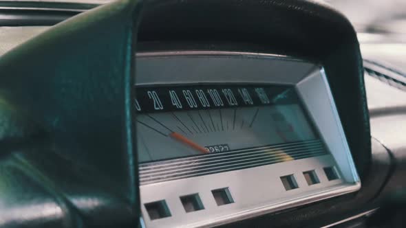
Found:
[[[147,227],[211,227],[298,207],[355,192],[361,188],[322,66],[289,56],[246,52],[145,52],[138,53],[136,56],[136,85],[224,83],[295,85],[297,93],[331,153],[331,155],[246,170],[142,185],[140,187],[141,208]],[[210,67],[207,67],[208,65]],[[322,173],[325,166],[336,166],[341,179],[326,181],[327,178]],[[301,186],[299,189],[292,191],[279,189],[279,187],[283,188],[279,182],[277,183],[279,176],[282,174],[297,176],[309,169],[317,171],[322,183],[317,186],[306,186],[303,179],[298,179],[298,184]],[[267,196],[264,196],[266,193],[264,191],[259,191],[257,194],[255,191],[249,192],[249,188],[244,188],[241,182],[244,182],[242,181],[244,176],[248,179],[253,175],[257,182],[250,182],[251,189],[259,191],[261,188],[266,189],[272,185],[275,186],[275,190],[268,189],[270,192]],[[269,182],[266,183],[266,180]],[[209,190],[231,185],[239,186],[237,190],[231,188],[231,192],[242,198],[218,209],[210,198]],[[186,214],[180,204],[179,196],[195,192],[201,192],[200,197],[206,203],[205,209]],[[263,201],[258,197],[262,197]],[[143,203],[161,199],[166,199],[171,205],[172,216],[149,220]],[[252,202],[256,203],[250,204]]]

